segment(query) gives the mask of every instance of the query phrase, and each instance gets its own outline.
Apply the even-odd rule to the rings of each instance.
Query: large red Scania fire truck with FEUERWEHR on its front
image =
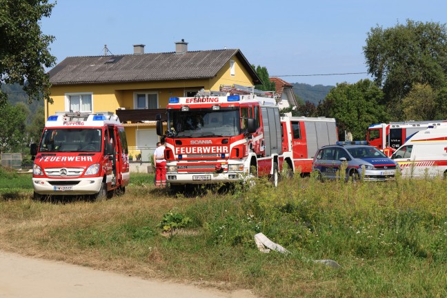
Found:
[[[157,135],[166,135],[166,182],[228,183],[281,170],[281,124],[272,92],[221,86],[218,92],[171,97],[167,130],[157,115]]]

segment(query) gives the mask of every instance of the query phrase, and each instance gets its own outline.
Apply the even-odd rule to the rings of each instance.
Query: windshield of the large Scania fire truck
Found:
[[[240,133],[239,109],[168,110],[169,137],[233,137]]]

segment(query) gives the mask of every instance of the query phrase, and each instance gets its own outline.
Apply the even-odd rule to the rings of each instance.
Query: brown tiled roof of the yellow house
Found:
[[[254,83],[261,79],[240,50],[67,57],[48,72],[53,85],[208,79],[235,56]]]

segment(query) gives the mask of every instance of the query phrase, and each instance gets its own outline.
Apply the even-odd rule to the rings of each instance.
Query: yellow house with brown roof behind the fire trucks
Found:
[[[237,49],[188,51],[183,39],[175,52],[67,57],[50,72],[55,112],[115,112],[126,129],[130,153],[148,161],[159,137],[155,116],[166,113],[170,97],[193,96],[233,83],[253,86],[261,79]]]

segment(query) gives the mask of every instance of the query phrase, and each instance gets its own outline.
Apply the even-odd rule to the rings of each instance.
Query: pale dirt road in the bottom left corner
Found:
[[[0,251],[0,298],[4,297],[255,298],[248,290],[222,292]]]

